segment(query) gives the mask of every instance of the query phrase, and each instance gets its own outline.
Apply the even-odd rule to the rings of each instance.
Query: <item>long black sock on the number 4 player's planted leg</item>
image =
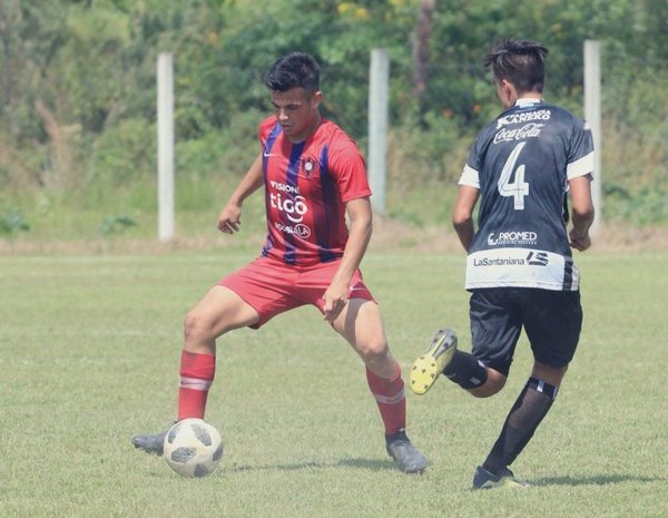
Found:
[[[490,473],[497,475],[510,466],[533,437],[533,432],[550,410],[554,398],[557,398],[557,387],[529,378],[482,467]]]

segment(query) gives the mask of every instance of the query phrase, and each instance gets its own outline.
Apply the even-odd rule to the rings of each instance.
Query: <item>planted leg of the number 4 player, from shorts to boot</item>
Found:
[[[492,487],[498,476],[522,452],[548,414],[580,335],[582,311],[579,294],[528,290],[524,323],[534,354],[533,370],[510,410],[497,442],[477,471],[478,483]],[[512,473],[511,473],[512,476]],[[484,480],[487,479],[487,480]],[[501,482],[503,480],[500,480]]]

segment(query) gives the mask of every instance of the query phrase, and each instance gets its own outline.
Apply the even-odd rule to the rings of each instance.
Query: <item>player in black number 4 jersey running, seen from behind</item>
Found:
[[[468,252],[472,351],[459,351],[454,332],[443,329],[411,371],[418,394],[443,372],[475,397],[493,395],[505,384],[524,329],[533,370],[475,470],[475,489],[527,485],[509,466],[554,401],[582,324],[571,247],[591,244],[593,144],[582,119],[543,100],[547,55],[539,42],[504,40],[485,58],[505,111],[478,135],[452,214]]]

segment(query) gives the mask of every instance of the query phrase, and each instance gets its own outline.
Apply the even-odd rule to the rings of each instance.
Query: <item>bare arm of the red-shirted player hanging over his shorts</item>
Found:
[[[345,211],[350,219],[348,240],[341,265],[323,295],[325,320],[328,322],[336,320],[347,302],[351,280],[362,263],[373,231],[369,196],[351,199],[346,203]]]

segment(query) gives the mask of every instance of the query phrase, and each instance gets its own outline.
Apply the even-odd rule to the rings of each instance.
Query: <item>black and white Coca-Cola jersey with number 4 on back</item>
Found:
[[[564,202],[568,180],[592,173],[591,130],[562,108],[520,99],[488,125],[459,180],[480,189],[465,287],[577,291]]]

